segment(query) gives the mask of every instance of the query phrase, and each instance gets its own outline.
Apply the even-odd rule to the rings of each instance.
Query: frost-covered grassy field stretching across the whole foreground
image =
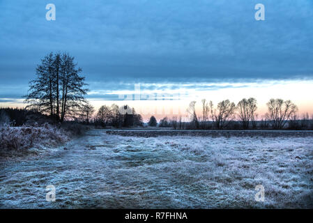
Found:
[[[0,208],[313,208],[313,137],[90,130],[66,148],[1,163]]]

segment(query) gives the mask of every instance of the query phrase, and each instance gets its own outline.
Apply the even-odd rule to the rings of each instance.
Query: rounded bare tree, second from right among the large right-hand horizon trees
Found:
[[[252,121],[252,126],[255,128],[255,112],[257,111],[257,100],[249,98],[241,100],[237,105],[238,115],[243,124],[243,128],[249,128],[249,123]]]

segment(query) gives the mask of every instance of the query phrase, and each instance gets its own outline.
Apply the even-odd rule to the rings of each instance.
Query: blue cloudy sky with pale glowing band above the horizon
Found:
[[[260,115],[270,98],[313,114],[312,49],[312,0],[0,0],[0,107],[24,107],[40,59],[68,52],[96,108],[127,103],[160,118],[185,114],[191,100],[200,109],[202,98],[254,97]],[[140,100],[124,96],[137,91]]]

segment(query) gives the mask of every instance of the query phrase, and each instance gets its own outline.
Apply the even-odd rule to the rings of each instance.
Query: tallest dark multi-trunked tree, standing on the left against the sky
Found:
[[[74,57],[65,53],[45,56],[36,68],[36,79],[29,82],[27,107],[61,122],[66,116],[77,115],[88,89],[80,75],[82,69],[76,66]]]

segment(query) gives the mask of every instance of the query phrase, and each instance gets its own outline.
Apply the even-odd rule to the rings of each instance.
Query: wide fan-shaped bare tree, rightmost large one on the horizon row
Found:
[[[298,111],[298,107],[291,100],[284,101],[280,98],[272,98],[266,105],[268,106],[266,116],[275,129],[284,128],[287,121]]]

